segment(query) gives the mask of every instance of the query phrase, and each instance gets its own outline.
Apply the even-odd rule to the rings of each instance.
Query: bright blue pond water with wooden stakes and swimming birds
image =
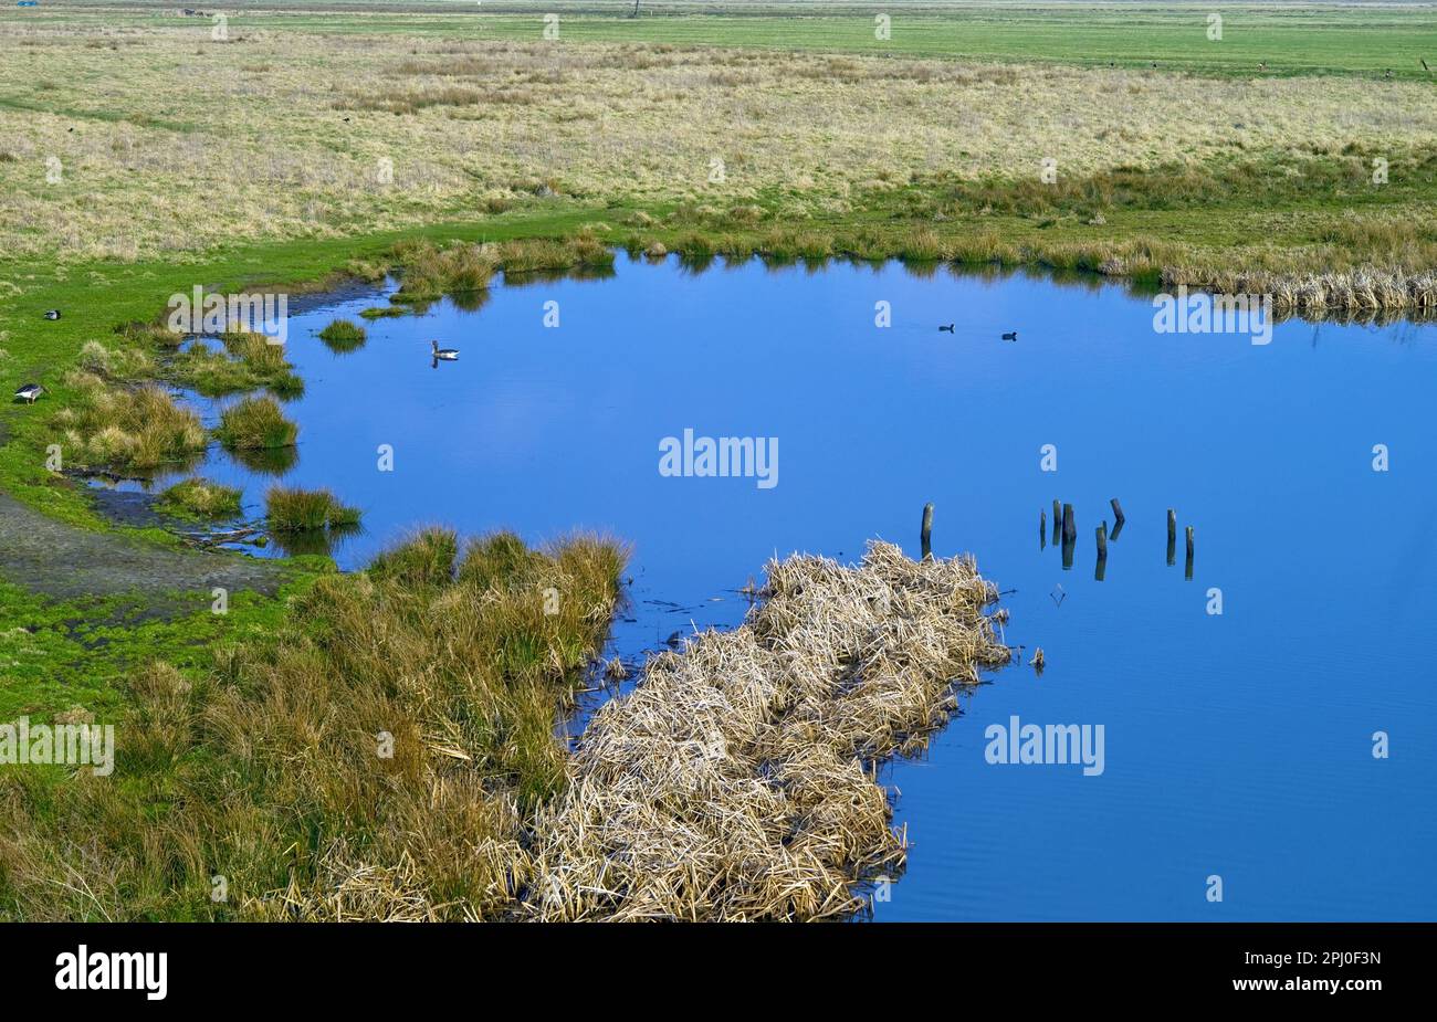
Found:
[[[349,355],[312,336],[374,303],[290,323],[308,390],[285,481],[364,508],[342,566],[425,522],[612,533],[634,545],[614,643],[637,656],[736,623],[776,553],[917,553],[933,501],[935,551],[1016,590],[1006,639],[1048,669],[994,675],[887,769],[912,851],[877,919],[1437,917],[1437,329],[1292,322],[1256,346],[1158,334],[1109,284],[621,257],[608,280],[374,322]],[[460,360],[433,367],[431,339]],[[660,475],[685,428],[777,438],[777,485]],[[201,471],[260,511],[269,477],[218,452]],[[1111,497],[1127,525],[1099,583]],[[1076,510],[1069,571],[1039,547],[1055,498]],[[1181,535],[1165,563],[1168,507],[1196,527],[1191,581]],[[1104,774],[987,764],[984,729],[1015,715],[1104,725]]]

